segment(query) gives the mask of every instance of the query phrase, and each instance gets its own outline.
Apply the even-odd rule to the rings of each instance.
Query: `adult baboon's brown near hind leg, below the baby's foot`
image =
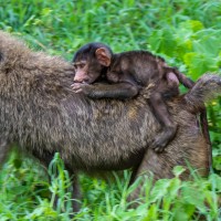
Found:
[[[175,176],[172,170],[176,166],[185,168],[185,171],[180,175],[182,180],[191,178],[192,170],[189,170],[189,166],[200,176],[208,176],[209,156],[206,139],[198,128],[196,131],[190,133],[189,136],[187,135],[187,133],[178,133],[175,140],[161,154],[147,148],[139,167],[135,170],[134,180],[143,175],[152,176],[154,182],[158,179],[172,178]],[[140,198],[144,182],[145,180],[141,179],[138,188],[129,196],[129,200]]]

